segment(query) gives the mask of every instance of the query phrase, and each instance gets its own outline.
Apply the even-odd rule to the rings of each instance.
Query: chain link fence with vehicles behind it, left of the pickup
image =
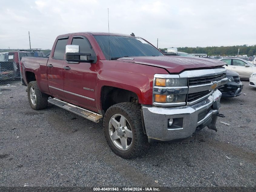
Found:
[[[48,57],[51,50],[0,49],[0,87],[20,82],[22,57]]]

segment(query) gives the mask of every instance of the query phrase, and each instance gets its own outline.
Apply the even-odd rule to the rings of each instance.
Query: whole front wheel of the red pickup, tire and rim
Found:
[[[103,129],[111,150],[129,159],[137,157],[148,148],[148,138],[143,132],[140,106],[118,103],[105,113]]]

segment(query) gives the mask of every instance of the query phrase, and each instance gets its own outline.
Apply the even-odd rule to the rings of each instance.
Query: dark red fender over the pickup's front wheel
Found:
[[[168,74],[162,68],[118,61],[105,61],[100,67],[96,89],[97,104],[100,103],[101,88],[112,86],[134,92],[139,103],[152,105],[154,75]]]

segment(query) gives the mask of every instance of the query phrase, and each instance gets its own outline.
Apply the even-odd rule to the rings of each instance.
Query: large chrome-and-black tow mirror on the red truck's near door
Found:
[[[80,53],[79,45],[66,45],[67,62],[95,63],[96,60],[96,56],[91,56],[91,53]]]

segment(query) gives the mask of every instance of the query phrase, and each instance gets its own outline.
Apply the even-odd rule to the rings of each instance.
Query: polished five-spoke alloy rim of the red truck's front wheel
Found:
[[[128,120],[121,114],[114,114],[108,122],[108,132],[112,142],[120,150],[128,150],[132,145],[132,131]]]

